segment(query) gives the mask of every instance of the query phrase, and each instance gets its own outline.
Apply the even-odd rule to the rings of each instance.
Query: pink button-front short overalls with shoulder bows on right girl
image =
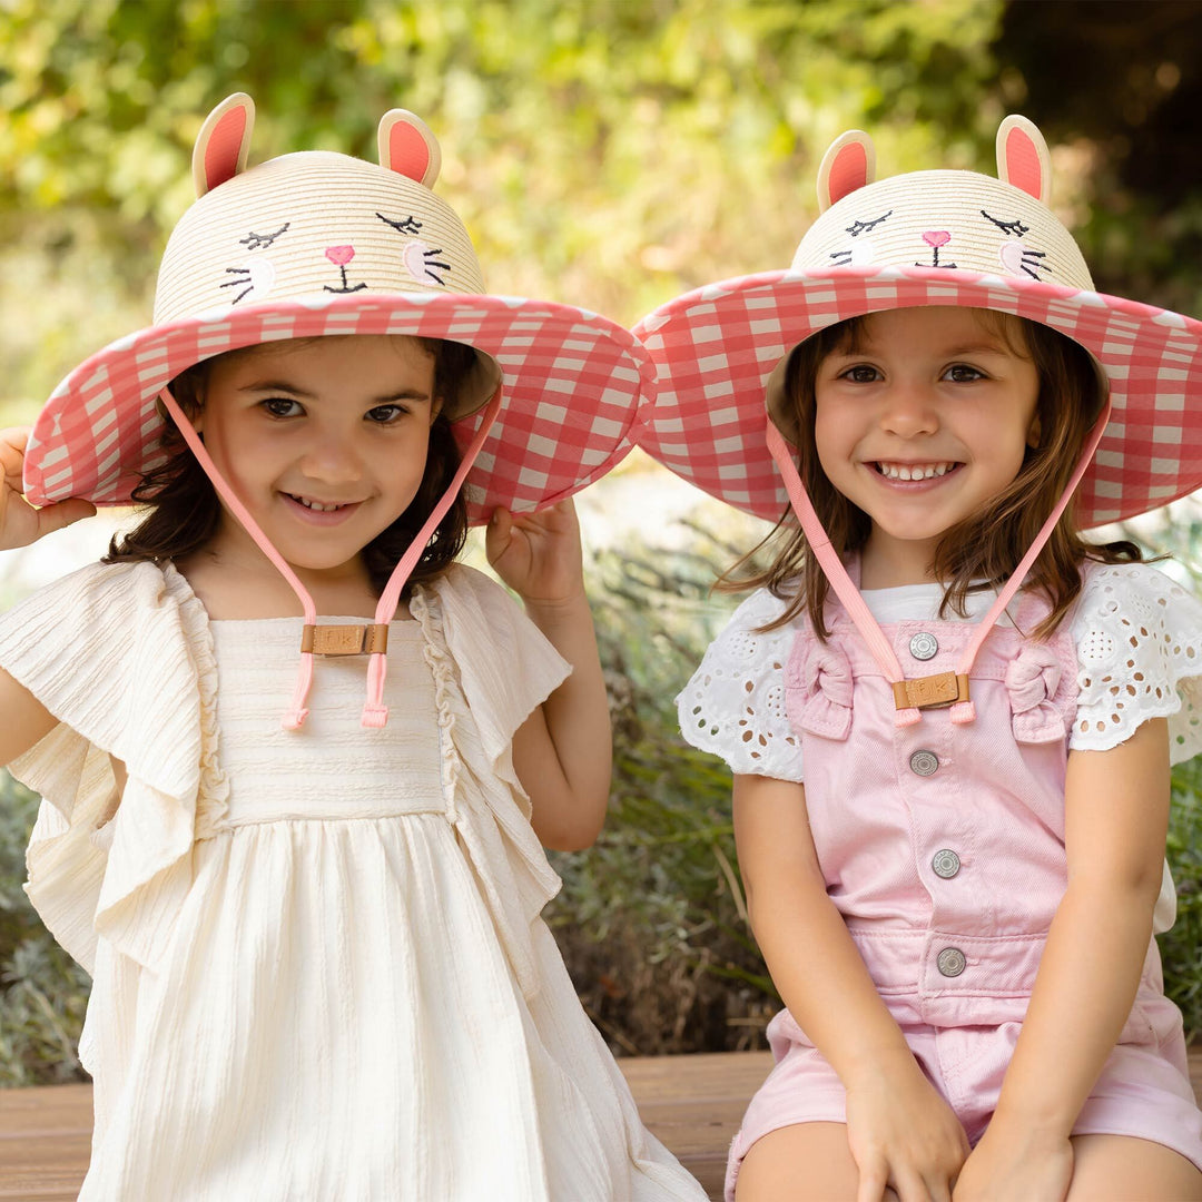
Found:
[[[1011,613],[1031,630],[1046,602],[1019,596]],[[827,613],[827,643],[807,625],[785,667],[827,893],[911,1051],[975,1143],[996,1106],[1067,881],[1064,785],[1077,698],[1069,624],[1047,642],[995,626],[971,672],[975,721],[927,709],[899,727],[891,685],[863,638],[834,599]],[[975,631],[954,620],[881,629],[908,679],[954,671]],[[728,1200],[761,1136],[846,1121],[838,1076],[787,1010],[768,1025],[768,1040],[776,1065],[731,1149]],[[1202,1167],[1202,1114],[1155,942],[1119,1045],[1073,1130],[1153,1139]]]

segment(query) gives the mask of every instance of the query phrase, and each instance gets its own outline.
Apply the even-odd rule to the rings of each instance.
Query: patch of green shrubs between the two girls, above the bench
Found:
[[[684,742],[673,701],[737,603],[709,595],[733,558],[710,545],[599,560],[613,793],[596,845],[552,857],[564,888],[547,917],[615,1052],[758,1046],[779,1008],[748,928],[730,772]]]

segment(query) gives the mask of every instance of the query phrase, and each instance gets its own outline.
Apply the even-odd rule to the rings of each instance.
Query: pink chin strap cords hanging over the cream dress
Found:
[[[275,565],[280,575],[285,581],[288,582],[292,591],[296,593],[300,605],[304,609],[304,635],[302,636],[302,650],[300,650],[300,667],[297,672],[296,686],[292,690],[292,700],[288,703],[288,708],[284,714],[280,725],[286,731],[299,730],[304,725],[305,718],[309,716],[309,710],[305,709],[305,700],[309,696],[309,690],[313,686],[313,657],[314,651],[310,650],[314,645],[317,631],[317,607],[314,605],[313,597],[309,595],[309,590],[300,583],[297,573],[292,571],[292,567],[287,564],[284,557],[270,545],[267,535],[263,534],[258,523],[250,516],[250,511],[245,505],[238,499],[234,490],[226,483],[221,472],[218,471],[216,464],[213,462],[208,451],[204,448],[204,444],[201,441],[200,435],[192,428],[192,423],[184,415],[184,411],[179,407],[175,398],[171,394],[169,388],[162,388],[159,392],[159,399],[162,401],[163,407],[171,413],[172,419],[179,428],[179,433],[183,435],[184,441],[188,444],[192,454],[196,456],[197,462],[204,470],[204,475],[209,477],[213,482],[213,487],[218,490],[218,495],[225,501],[226,507],[231,513],[238,519],[246,534],[255,540],[255,545],[260,551]],[[388,721],[388,707],[383,703],[383,685],[385,679],[388,674],[388,656],[385,648],[387,648],[387,629],[388,623],[395,617],[397,607],[400,605],[400,594],[405,588],[405,582],[409,579],[410,572],[412,572],[418,559],[422,557],[422,552],[426,551],[427,543],[438,529],[439,523],[446,516],[446,512],[454,504],[456,496],[459,494],[459,489],[463,487],[463,482],[471,470],[471,465],[476,462],[476,457],[480,454],[481,447],[484,445],[484,440],[488,438],[488,432],[493,428],[493,423],[496,421],[496,415],[501,409],[501,388],[498,386],[496,392],[493,393],[492,399],[484,409],[484,418],[481,422],[480,429],[472,436],[471,444],[468,450],[463,453],[463,459],[459,463],[459,469],[454,474],[454,478],[451,481],[450,487],[442,494],[438,505],[434,506],[433,512],[426,519],[426,524],[413,541],[409,545],[409,549],[401,555],[397,566],[392,571],[392,576],[388,578],[388,583],[385,587],[383,593],[380,595],[380,602],[376,605],[375,612],[375,625],[376,627],[382,627],[382,647],[380,649],[373,649],[373,644],[369,643],[370,660],[368,662],[368,682],[367,682],[367,701],[363,706],[362,724],[368,728],[380,728],[385,726]],[[369,631],[369,633],[375,635],[375,631]]]

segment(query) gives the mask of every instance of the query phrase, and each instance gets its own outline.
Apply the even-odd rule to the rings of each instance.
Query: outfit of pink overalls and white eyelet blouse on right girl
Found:
[[[881,629],[909,677],[953,671],[974,633],[970,621],[933,615],[938,594],[865,594],[893,619]],[[781,602],[770,601],[779,613]],[[1067,883],[1069,751],[1078,738],[1115,745],[1154,716],[1170,718],[1176,749],[1196,746],[1202,662],[1190,649],[1202,641],[1202,607],[1154,570],[1093,569],[1072,621],[1034,642],[1020,631],[1047,606],[1022,595],[974,665],[975,721],[957,725],[935,709],[898,727],[892,689],[838,602],[826,643],[804,618],[784,633],[760,633],[772,605],[757,594],[719,636],[680,696],[682,726],[702,745],[733,744],[736,772],[804,779],[827,895],[975,1143]],[[1105,662],[1087,662],[1083,648],[1101,648]],[[787,1010],[769,1023],[768,1040],[776,1063],[734,1141],[728,1198],[756,1139],[797,1123],[846,1121],[838,1075]],[[1154,941],[1073,1131],[1153,1139],[1202,1167],[1202,1114]]]

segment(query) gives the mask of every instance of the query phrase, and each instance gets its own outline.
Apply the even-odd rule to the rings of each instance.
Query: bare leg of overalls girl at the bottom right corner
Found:
[[[1072,1150],[1066,1202],[1202,1200],[1202,1173],[1162,1143],[1123,1135],[1078,1135]]]

